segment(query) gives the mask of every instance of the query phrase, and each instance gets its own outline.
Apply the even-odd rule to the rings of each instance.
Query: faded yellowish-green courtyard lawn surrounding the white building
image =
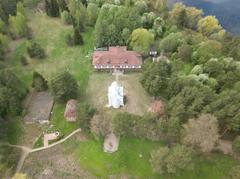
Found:
[[[124,88],[126,96],[126,104],[121,109],[109,109],[105,106],[108,104],[107,90],[115,76],[110,73],[93,73],[89,80],[87,88],[87,97],[91,105],[93,105],[100,113],[114,113],[126,111],[134,114],[142,115],[148,112],[150,106],[150,96],[140,84],[141,73],[126,73],[119,76],[119,83]]]

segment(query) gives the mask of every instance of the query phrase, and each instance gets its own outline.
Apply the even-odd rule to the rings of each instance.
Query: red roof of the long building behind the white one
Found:
[[[93,65],[142,65],[142,57],[135,51],[128,51],[127,47],[109,47],[108,51],[95,51]]]

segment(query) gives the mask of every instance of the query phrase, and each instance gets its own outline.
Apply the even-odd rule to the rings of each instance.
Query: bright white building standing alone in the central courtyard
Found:
[[[108,87],[108,107],[119,108],[123,105],[123,87],[114,81]]]

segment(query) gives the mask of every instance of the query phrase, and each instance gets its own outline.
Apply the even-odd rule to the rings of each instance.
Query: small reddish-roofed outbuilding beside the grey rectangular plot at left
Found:
[[[77,100],[71,99],[67,102],[64,117],[69,122],[75,122],[77,120]]]

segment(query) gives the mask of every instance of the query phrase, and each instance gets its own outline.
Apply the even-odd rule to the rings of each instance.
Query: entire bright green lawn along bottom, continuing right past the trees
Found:
[[[63,145],[66,154],[72,155],[81,167],[103,178],[114,175],[162,179],[220,179],[228,174],[231,167],[239,164],[230,156],[214,153],[196,158],[194,170],[185,170],[176,175],[158,175],[152,171],[149,158],[150,152],[163,146],[163,142],[122,138],[119,150],[113,154],[103,152],[103,140],[90,139],[85,142],[69,140]]]

